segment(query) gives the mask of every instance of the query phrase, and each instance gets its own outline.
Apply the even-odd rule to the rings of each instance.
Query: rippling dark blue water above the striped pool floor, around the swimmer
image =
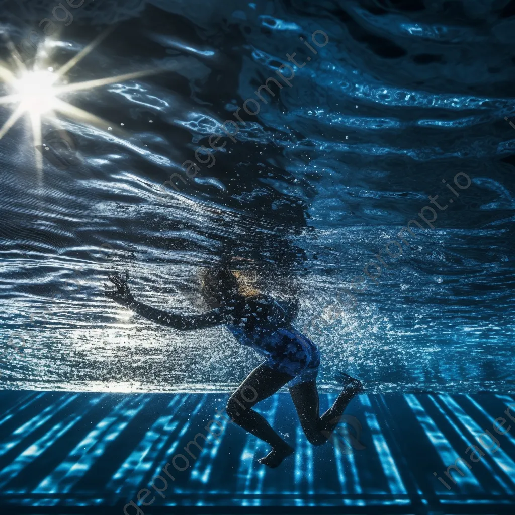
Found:
[[[11,4],[2,30],[16,45],[56,5]],[[344,369],[370,392],[514,391],[515,3],[95,1],[70,12],[29,70],[57,73],[111,28],[59,83],[159,73],[60,93],[90,115],[43,112],[47,157],[27,114],[0,141],[2,388],[232,388],[260,358],[227,330],[159,328],[102,293],[108,271],[128,270],[138,299],[198,311],[199,270],[230,263],[249,287],[300,297],[322,389]],[[314,46],[315,31],[327,44]],[[305,64],[288,85],[276,72],[293,53]],[[265,103],[255,91],[269,77],[281,88],[261,90]],[[37,106],[43,82],[30,90]],[[2,124],[15,107],[0,104]],[[228,135],[238,107],[245,124]],[[65,152],[56,130],[72,135]],[[197,154],[200,165],[212,134],[223,148]],[[171,174],[176,188],[163,189]],[[399,236],[411,219],[422,229]]]

